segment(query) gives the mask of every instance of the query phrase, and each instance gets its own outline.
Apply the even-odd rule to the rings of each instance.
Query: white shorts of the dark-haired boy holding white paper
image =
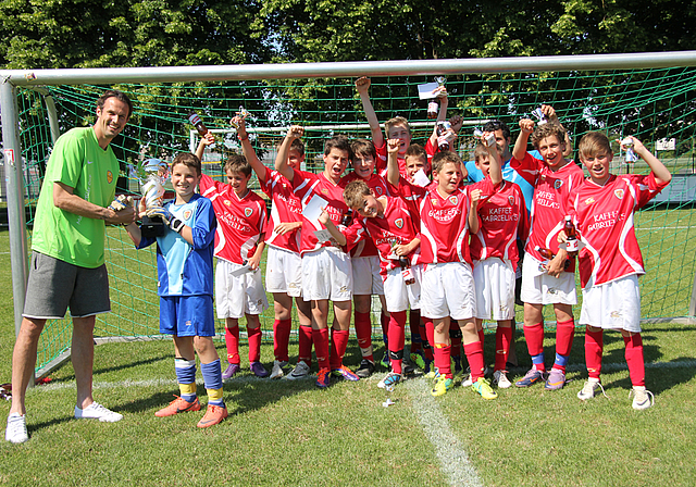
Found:
[[[302,255],[302,298],[350,301],[352,270],[350,255],[336,247],[322,247]]]

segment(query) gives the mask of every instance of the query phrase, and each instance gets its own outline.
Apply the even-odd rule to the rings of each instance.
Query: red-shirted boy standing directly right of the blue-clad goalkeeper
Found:
[[[202,153],[203,146],[199,145]],[[225,320],[229,379],[240,370],[239,319],[247,317],[249,366],[258,377],[269,375],[261,364],[261,323],[259,315],[269,307],[259,264],[263,254],[265,201],[247,185],[251,166],[244,155],[232,154],[225,161],[227,184],[203,174],[201,193],[210,198],[217,217],[215,233],[215,305],[217,317]]]

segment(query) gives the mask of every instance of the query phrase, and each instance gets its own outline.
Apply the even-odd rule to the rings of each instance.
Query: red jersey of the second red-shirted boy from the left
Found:
[[[300,199],[293,191],[293,184],[277,171],[265,167],[265,176],[261,183],[261,189],[265,192],[273,205],[265,227],[265,242],[273,247],[300,251],[299,229],[278,235],[273,229],[281,223],[302,221],[302,207]]]

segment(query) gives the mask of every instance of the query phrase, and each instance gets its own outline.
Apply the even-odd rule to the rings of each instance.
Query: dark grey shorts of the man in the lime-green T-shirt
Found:
[[[24,299],[25,317],[57,320],[70,314],[86,317],[111,311],[107,266],[80,267],[32,252]]]

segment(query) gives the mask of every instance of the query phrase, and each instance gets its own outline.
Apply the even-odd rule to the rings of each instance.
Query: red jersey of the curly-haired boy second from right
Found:
[[[543,262],[546,259],[534,248],[538,246],[558,252],[557,236],[563,228],[566,215],[570,214],[570,192],[583,182],[583,170],[571,161],[560,170],[551,171],[546,162],[529,152],[522,161],[512,158],[510,167],[534,186],[530,236],[524,250]],[[567,271],[575,272],[574,261]]]

